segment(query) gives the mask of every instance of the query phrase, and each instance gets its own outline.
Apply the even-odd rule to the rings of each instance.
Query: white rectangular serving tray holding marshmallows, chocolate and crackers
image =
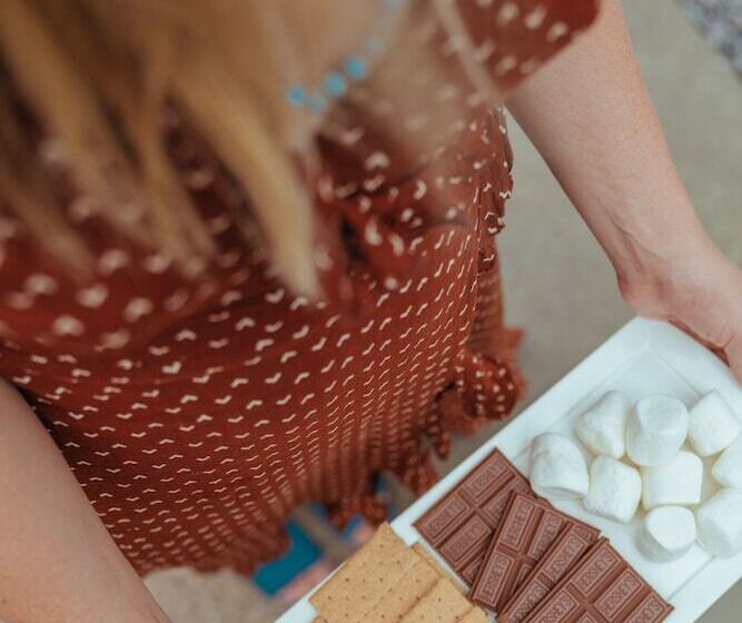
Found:
[[[407,544],[425,543],[413,526],[415,521],[493,448],[498,447],[526,473],[531,439],[545,431],[572,436],[574,418],[609,389],[621,389],[632,400],[649,394],[670,394],[687,406],[706,392],[718,389],[742,417],[742,387],[716,357],[665,323],[636,318],[462,462],[392,526]],[[709,482],[706,486],[713,484]],[[742,553],[728,560],[713,558],[696,545],[674,563],[647,561],[635,545],[641,511],[631,524],[623,525],[584,511],[580,502],[560,501],[555,506],[598,527],[611,540],[626,561],[674,606],[666,623],[695,621],[742,577]],[[742,522],[742,517],[738,521]],[[278,622],[309,623],[314,616],[315,611],[305,596]]]

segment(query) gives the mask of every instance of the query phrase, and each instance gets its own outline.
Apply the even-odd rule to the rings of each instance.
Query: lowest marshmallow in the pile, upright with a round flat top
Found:
[[[650,511],[639,532],[639,548],[655,563],[680,558],[695,541],[695,517],[682,506]]]

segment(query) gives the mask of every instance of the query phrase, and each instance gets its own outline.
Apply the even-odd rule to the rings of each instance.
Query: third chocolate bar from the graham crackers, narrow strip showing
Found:
[[[597,535],[597,531],[585,531],[580,524],[570,525],[562,531],[505,607],[498,611],[497,622],[522,623],[585,554]]]

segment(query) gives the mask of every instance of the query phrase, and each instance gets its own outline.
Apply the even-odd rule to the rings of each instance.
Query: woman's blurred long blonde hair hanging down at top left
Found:
[[[461,36],[449,0],[433,4]],[[285,88],[319,83],[380,10],[378,0],[2,0],[0,199],[52,253],[85,265],[85,246],[49,207],[53,189],[16,112],[20,95],[112,225],[175,259],[209,256],[211,238],[162,140],[176,106],[249,197],[238,222],[254,218],[284,279],[315,294],[313,197],[294,158],[311,155],[321,119],[287,106]],[[144,205],[149,227],[127,205]]]

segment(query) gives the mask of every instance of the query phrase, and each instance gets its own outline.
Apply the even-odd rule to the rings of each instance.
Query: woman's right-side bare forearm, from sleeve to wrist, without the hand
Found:
[[[662,280],[715,254],[643,86],[619,0],[508,107],[582,214],[620,280]]]

